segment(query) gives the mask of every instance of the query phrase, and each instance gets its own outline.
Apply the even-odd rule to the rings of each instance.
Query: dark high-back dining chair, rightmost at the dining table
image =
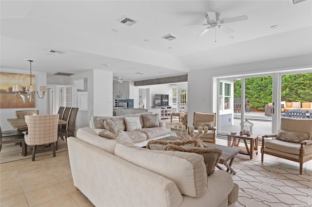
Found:
[[[78,113],[78,109],[79,108],[73,107],[70,110],[69,117],[68,117],[68,123],[66,125],[64,124],[64,126],[66,126],[66,128],[65,129],[61,128],[58,131],[58,137],[60,137],[62,140],[64,140],[64,137],[66,140],[67,137],[75,135],[75,123],[76,123],[76,116]],[[58,150],[58,142],[56,144],[56,148]]]

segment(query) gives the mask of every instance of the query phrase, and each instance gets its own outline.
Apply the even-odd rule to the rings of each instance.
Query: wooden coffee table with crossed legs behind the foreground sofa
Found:
[[[160,140],[166,140],[166,141],[176,141],[177,137],[176,136],[168,136],[165,138],[162,138]],[[238,154],[239,150],[232,148],[232,147],[227,147],[227,146],[222,146],[222,145],[215,145],[212,143],[206,143],[208,145],[208,148],[217,148],[222,150],[222,155],[219,160],[219,164],[222,164],[226,167],[226,169],[222,168],[221,166],[217,165],[216,167],[221,170],[226,170],[230,175],[236,174],[235,170],[232,168],[232,164],[234,161],[235,156]]]

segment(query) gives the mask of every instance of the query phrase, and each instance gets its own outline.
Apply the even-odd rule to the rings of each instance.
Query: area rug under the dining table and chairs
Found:
[[[2,145],[2,149],[0,152],[0,163],[6,163],[6,162],[12,162],[16,160],[22,160],[32,157],[32,150],[30,150],[32,147],[28,146],[27,156],[23,157],[20,155],[21,153],[21,147],[19,144],[6,144]],[[58,151],[67,151],[67,142],[62,141],[59,139],[58,144]],[[38,146],[38,149],[36,151],[35,157],[51,154],[52,156],[52,150],[51,147],[44,147],[44,146]],[[57,155],[58,156],[58,155]]]

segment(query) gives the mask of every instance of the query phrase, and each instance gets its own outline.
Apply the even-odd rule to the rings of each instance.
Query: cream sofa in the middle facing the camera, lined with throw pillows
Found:
[[[104,120],[110,119],[115,123],[117,130],[125,131],[130,136],[134,144],[138,147],[146,146],[149,140],[161,139],[170,135],[171,129],[169,127],[166,127],[166,123],[159,121],[159,119],[159,127],[144,127],[143,114],[153,115],[152,113],[136,113],[128,114],[125,116],[92,116],[90,120],[90,129],[99,134],[99,132],[105,129],[103,124]],[[137,116],[139,118],[142,129],[127,131],[127,123],[125,121],[125,117],[134,116]]]

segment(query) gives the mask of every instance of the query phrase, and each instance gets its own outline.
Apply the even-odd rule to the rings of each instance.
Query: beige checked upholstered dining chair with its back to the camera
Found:
[[[36,147],[38,145],[49,144],[53,152],[53,157],[55,157],[54,143],[58,141],[59,114],[26,115],[25,122],[28,127],[28,133],[24,136],[26,144],[24,151],[27,151],[27,146],[34,146],[32,160],[35,161]]]

